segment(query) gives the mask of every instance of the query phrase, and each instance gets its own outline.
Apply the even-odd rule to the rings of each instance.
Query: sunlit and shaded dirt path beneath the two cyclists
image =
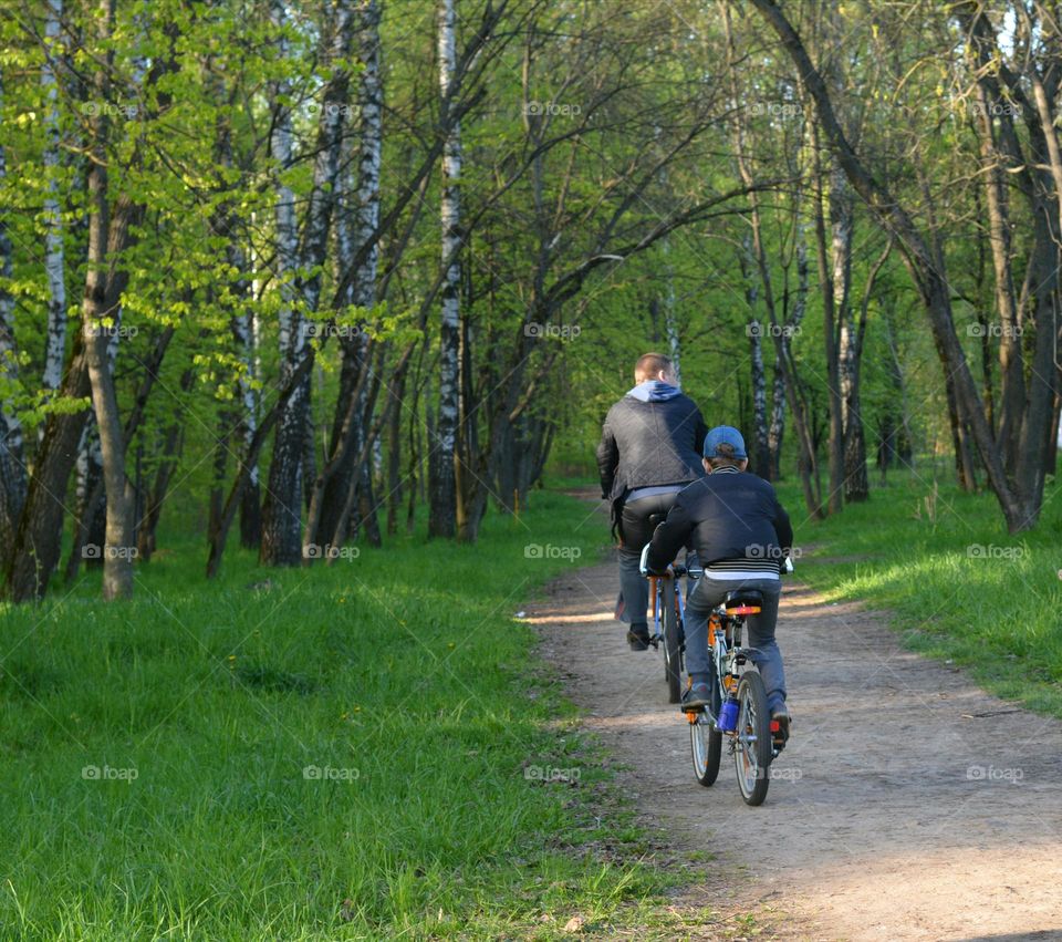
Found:
[[[903,650],[881,613],[787,582],[793,738],[748,808],[726,756],[711,788],[694,780],[662,655],[629,651],[612,619],[617,584],[614,563],[573,571],[527,614],[643,814],[726,862],[729,903],[774,938],[1062,940],[1062,723]]]

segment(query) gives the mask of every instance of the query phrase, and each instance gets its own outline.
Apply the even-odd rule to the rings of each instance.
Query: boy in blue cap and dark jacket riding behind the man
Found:
[[[774,488],[748,474],[745,439],[737,428],[720,425],[705,438],[708,476],[694,482],[675,499],[667,519],[653,534],[646,555],[646,571],[659,576],[675,559],[680,546],[693,541],[704,567],[686,600],[686,667],[691,681],[683,696],[683,710],[702,710],[710,703],[714,683],[708,654],[708,615],[733,589],[763,593],[759,614],[749,617],[749,643],[758,649],[756,665],[767,687],[771,718],[779,736],[789,737],[785,706],[785,673],[774,640],[779,573],[793,542],[789,515],[778,503]]]

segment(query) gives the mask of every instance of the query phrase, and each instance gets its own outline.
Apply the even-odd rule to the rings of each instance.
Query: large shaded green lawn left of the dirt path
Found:
[[[560,495],[531,505],[475,547],[418,532],[290,570],[230,549],[216,582],[201,542],[170,534],[132,602],[98,601],[91,574],[0,609],[0,936],[652,923],[678,877],[512,619],[570,565],[529,544],[581,565],[605,527],[573,535],[585,507]]]

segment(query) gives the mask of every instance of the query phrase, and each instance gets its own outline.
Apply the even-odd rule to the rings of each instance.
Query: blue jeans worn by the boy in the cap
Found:
[[[708,653],[708,615],[720,604],[727,592],[735,589],[756,589],[763,593],[763,607],[759,614],[746,619],[747,638],[742,643],[756,648],[756,666],[767,687],[767,705],[775,710],[785,703],[785,673],[782,670],[782,652],[774,641],[778,623],[778,599],[782,592],[780,579],[709,579],[697,580],[686,600],[686,670],[694,683],[712,683],[715,673]]]

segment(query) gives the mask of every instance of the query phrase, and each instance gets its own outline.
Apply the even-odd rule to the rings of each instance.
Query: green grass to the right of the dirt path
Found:
[[[780,496],[804,549],[798,574],[829,599],[889,609],[913,650],[1062,716],[1060,483],[1048,484],[1039,526],[1010,536],[991,494],[962,494],[943,477],[934,501],[927,476],[891,474],[868,503],[821,522],[804,519],[798,482],[785,482]]]

